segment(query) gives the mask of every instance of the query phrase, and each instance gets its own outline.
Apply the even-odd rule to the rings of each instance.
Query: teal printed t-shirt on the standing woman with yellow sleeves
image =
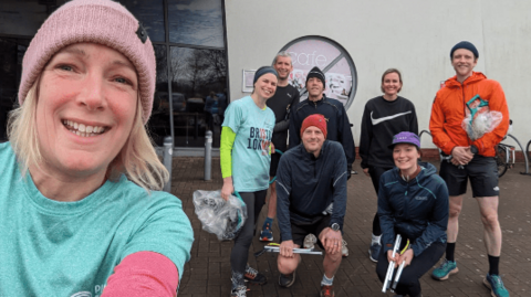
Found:
[[[268,189],[273,110],[269,107],[260,109],[251,96],[246,96],[229,105],[222,126],[236,132],[231,155],[235,190],[254,192]]]

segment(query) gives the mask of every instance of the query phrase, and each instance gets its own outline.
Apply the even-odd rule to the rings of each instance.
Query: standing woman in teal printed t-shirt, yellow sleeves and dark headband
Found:
[[[258,215],[266,202],[271,162],[271,135],[274,114],[266,102],[274,95],[277,71],[271,66],[260,67],[254,74],[254,89],[231,103],[225,114],[221,130],[221,197],[229,199],[237,191],[247,205],[247,221],[235,238],[230,254],[232,267],[231,296],[246,296],[246,283],[266,284],[266,276],[249,267],[247,258]]]

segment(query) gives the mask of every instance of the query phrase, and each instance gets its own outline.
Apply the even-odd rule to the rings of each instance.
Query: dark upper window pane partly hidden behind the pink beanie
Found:
[[[119,3],[142,22],[152,41],[165,41],[164,0],[119,0]]]

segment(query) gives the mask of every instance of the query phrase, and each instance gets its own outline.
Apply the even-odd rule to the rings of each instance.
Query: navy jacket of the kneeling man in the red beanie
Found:
[[[343,147],[325,140],[317,158],[301,144],[280,158],[277,170],[277,218],[282,241],[292,240],[291,220],[311,223],[334,202],[331,224],[346,209],[346,159]],[[319,235],[319,234],[315,234]]]

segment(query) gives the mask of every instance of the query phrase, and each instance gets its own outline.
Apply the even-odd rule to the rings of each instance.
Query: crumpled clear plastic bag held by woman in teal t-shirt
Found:
[[[197,190],[194,192],[192,201],[202,230],[216,234],[220,241],[236,238],[246,223],[247,205],[235,195],[225,201],[220,190]]]

